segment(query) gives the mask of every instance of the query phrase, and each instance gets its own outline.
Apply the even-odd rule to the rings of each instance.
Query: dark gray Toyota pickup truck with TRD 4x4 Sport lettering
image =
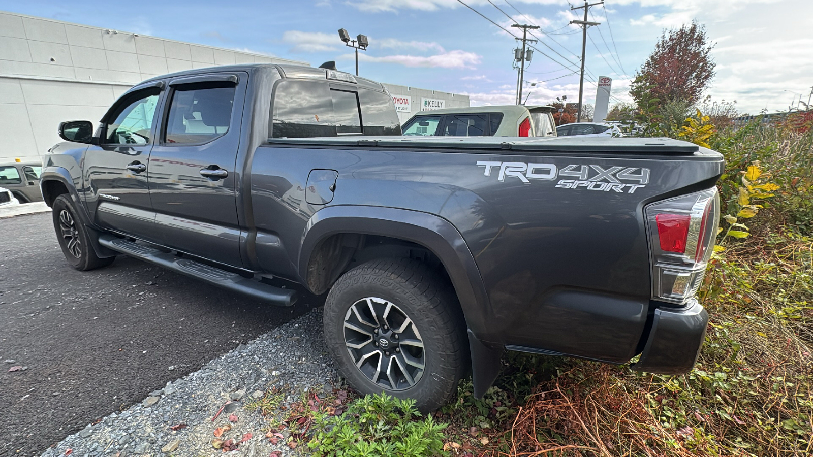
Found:
[[[379,83],[270,64],[159,76],[59,132],[41,189],[68,263],[327,294],[325,346],[362,393],[431,411],[471,369],[481,396],[505,350],[687,372],[704,340],[712,150],[402,137]]]

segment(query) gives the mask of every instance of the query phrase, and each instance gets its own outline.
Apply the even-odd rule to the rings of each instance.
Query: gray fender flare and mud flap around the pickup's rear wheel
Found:
[[[308,220],[298,256],[298,273],[307,279],[311,255],[324,239],[337,233],[395,237],[431,250],[449,273],[468,327],[475,395],[480,398],[496,379],[501,344],[482,342],[493,311],[471,250],[454,225],[437,215],[390,207],[337,205],[316,211]]]

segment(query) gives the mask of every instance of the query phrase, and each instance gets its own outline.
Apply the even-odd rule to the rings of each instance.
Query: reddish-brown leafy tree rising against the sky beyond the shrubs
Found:
[[[655,50],[636,72],[630,94],[639,105],[645,93],[658,104],[699,102],[715,76],[713,47],[714,43],[709,43],[706,37],[706,28],[696,22],[664,30]]]

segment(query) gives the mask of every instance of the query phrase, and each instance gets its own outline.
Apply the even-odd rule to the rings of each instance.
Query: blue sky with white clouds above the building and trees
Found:
[[[318,66],[336,60],[354,72],[353,50],[338,37],[363,33],[361,76],[467,94],[472,105],[513,104],[511,24],[540,27],[525,72],[527,102],[579,94],[583,2],[571,0],[243,0],[240,2],[99,2],[0,0],[0,10],[295,59]],[[596,2],[598,0],[593,0]],[[472,10],[473,9],[473,10]],[[479,13],[479,14],[478,14]],[[485,16],[485,17],[483,17]],[[488,18],[488,19],[486,19]],[[589,8],[585,102],[599,76],[613,78],[611,105],[629,102],[629,81],[664,29],[697,20],[715,43],[716,76],[706,95],[737,102],[741,113],[803,107],[813,86],[809,0],[606,0]],[[805,25],[807,24],[807,25]],[[591,82],[592,81],[592,82]],[[536,82],[535,86],[530,84]]]

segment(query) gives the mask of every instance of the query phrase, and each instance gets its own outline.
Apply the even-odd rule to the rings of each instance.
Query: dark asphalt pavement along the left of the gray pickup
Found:
[[[270,307],[125,256],[77,272],[50,212],[0,219],[0,456],[40,455],[323,302]]]

